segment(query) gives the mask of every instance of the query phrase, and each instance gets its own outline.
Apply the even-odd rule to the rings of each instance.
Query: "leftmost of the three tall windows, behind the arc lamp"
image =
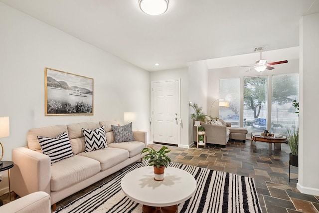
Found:
[[[219,80],[219,101],[229,102],[229,107],[219,107],[219,118],[239,127],[240,112],[240,78]]]

